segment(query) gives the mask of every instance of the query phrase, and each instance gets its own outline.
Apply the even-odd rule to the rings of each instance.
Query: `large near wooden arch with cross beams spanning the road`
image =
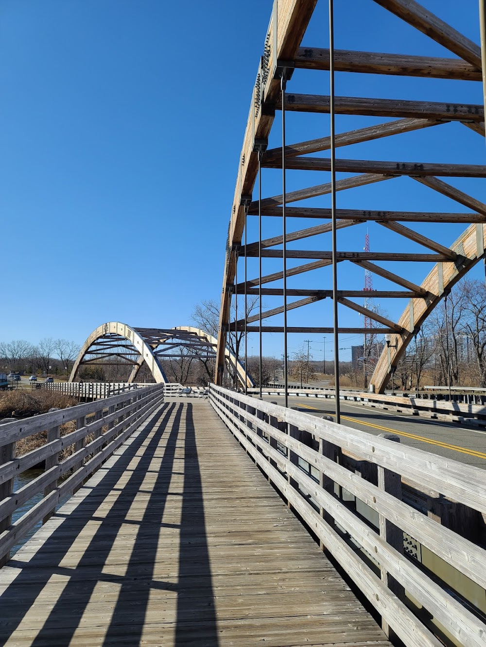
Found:
[[[402,25],[407,23],[426,34],[456,58],[430,58],[411,53],[387,54],[316,47],[321,43],[310,41],[306,30],[309,23],[312,23],[318,0],[279,0],[273,4],[272,17],[251,96],[248,122],[238,163],[235,197],[231,205],[220,309],[218,366],[215,376],[218,384],[223,383],[225,340],[231,331],[259,333],[260,348],[262,333],[283,333],[285,365],[288,359],[286,340],[288,333],[334,333],[337,365],[338,334],[369,333],[366,327],[340,327],[339,303],[340,306],[360,313],[373,322],[374,334],[389,335],[389,344],[376,362],[370,379],[375,390],[381,393],[386,388],[400,356],[403,355],[407,345],[413,340],[428,315],[447,296],[457,281],[484,258],[486,204],[450,184],[449,179],[469,178],[476,179],[476,182],[480,179],[484,181],[485,166],[456,162],[443,163],[440,160],[429,162],[424,158],[410,161],[400,157],[400,142],[406,139],[404,133],[421,131],[422,137],[425,137],[426,131],[436,127],[441,129],[449,151],[454,149],[455,141],[461,140],[459,127],[462,127],[463,134],[468,130],[477,133],[477,146],[481,146],[481,150],[484,148],[481,48],[415,0],[365,0],[362,4],[366,3],[369,3],[370,8],[373,5],[381,5],[401,19]],[[353,16],[349,17],[349,20],[352,19]],[[397,20],[395,25],[399,30],[400,21]],[[319,31],[321,32],[323,28],[324,26],[321,25]],[[370,33],[370,45],[373,44],[373,40],[373,33]],[[318,74],[318,71],[331,71],[333,82],[329,95],[292,91],[292,85],[299,84],[297,87],[305,87],[306,83],[310,83],[308,71],[314,71],[311,74]],[[434,102],[387,97],[334,96],[335,72],[358,72],[366,74],[370,79],[376,78],[376,75],[391,75],[447,80],[448,100]],[[299,77],[299,74],[302,76]],[[477,104],[464,102],[461,98],[465,85],[458,83],[460,81],[476,82]],[[280,113],[279,118],[276,116],[277,113]],[[285,115],[293,115],[293,133],[299,127],[308,132],[307,122],[299,119],[299,115],[306,117],[310,113],[332,113],[330,136],[303,141],[292,140],[288,143]],[[363,124],[366,117],[373,120],[370,126],[336,133],[334,115],[349,115],[351,118],[354,116],[357,124]],[[376,118],[380,118],[380,123],[376,124]],[[281,135],[279,129],[282,131]],[[318,130],[320,133],[323,127],[319,126]],[[277,148],[268,148],[268,142],[272,136],[280,144]],[[395,159],[354,159],[354,149],[351,153],[353,159],[346,159],[345,155],[341,159],[335,155],[336,148],[372,140],[382,144],[385,139],[388,141],[389,137],[393,137]],[[315,155],[323,151],[330,151],[330,156]],[[356,155],[359,155],[357,151],[359,147],[356,149]],[[424,157],[427,155],[426,148],[423,154]],[[283,170],[282,190],[279,195],[262,194],[262,176],[263,179],[267,177],[268,171],[264,171],[266,169]],[[306,171],[305,175],[303,172],[296,174],[298,182],[304,182],[305,177],[309,177],[309,181],[302,188],[287,192],[286,181],[292,173],[295,175],[295,171]],[[320,173],[330,171],[330,182],[323,184],[312,182],[314,177],[319,175],[318,171]],[[340,177],[336,179],[336,175]],[[408,184],[404,183],[406,181]],[[367,204],[369,194],[365,192],[361,193],[360,208],[336,208],[336,192],[339,192],[341,201],[341,192],[353,190],[353,204],[355,204],[360,187],[383,182],[386,184],[393,182],[396,185],[397,210],[389,210],[388,206],[385,206],[389,203],[389,195],[385,196],[386,202],[384,198],[383,209],[370,209],[369,203]],[[436,202],[443,205],[445,196],[449,199],[453,211],[431,212],[430,207],[420,211],[404,211],[402,204],[405,195],[413,189],[410,183],[417,182],[429,190],[427,204],[431,203],[435,195]],[[480,193],[479,186],[478,193]],[[322,201],[319,198],[325,195],[331,196],[330,208],[320,206]],[[345,197],[342,200],[345,201]],[[315,206],[316,201],[319,206]],[[288,203],[292,203],[292,206],[288,206]],[[464,212],[464,207],[467,208],[467,212]],[[458,208],[462,211],[457,212]],[[249,221],[255,217],[259,221],[259,238],[256,241],[247,239]],[[290,230],[290,223],[294,223],[295,219],[298,223],[302,221],[310,221],[310,223],[305,228],[301,225],[299,228]],[[265,221],[267,230],[270,227],[267,223],[272,223],[274,231],[272,236],[262,237],[262,220]],[[362,223],[378,223],[383,231],[389,232],[389,238],[383,239],[383,251],[370,252],[336,247],[337,230],[340,231],[340,245],[345,245],[344,241],[347,238],[350,239],[348,234],[352,233],[349,232],[349,227]],[[434,223],[434,227],[428,228],[431,232],[428,236],[424,236],[415,229],[421,223],[429,225]],[[452,245],[441,241],[441,225],[444,223],[462,223],[464,227],[463,233]],[[323,237],[323,234],[328,236]],[[314,247],[308,248],[308,245],[301,245],[299,248],[299,241],[305,241],[305,239],[316,241]],[[415,243],[415,247],[421,246],[422,250],[406,251],[410,248],[410,241]],[[294,243],[297,243],[297,247]],[[352,242],[351,246],[353,244],[355,245]],[[413,245],[411,247],[413,248]],[[247,259],[252,257],[259,259],[258,276],[247,274]],[[333,258],[334,263],[332,263]],[[270,259],[281,259],[283,266],[278,271],[262,272],[262,260],[269,263]],[[302,263],[302,261],[310,262]],[[399,267],[399,270],[390,270],[390,262]],[[373,291],[373,297],[380,300],[405,300],[406,307],[402,316],[396,321],[391,320],[388,316],[380,314],[376,308],[367,309],[356,302],[356,299],[367,298],[370,294],[365,290],[356,289],[355,274],[351,289],[340,286],[338,263],[353,263],[355,267],[375,274],[380,280],[386,280],[386,285],[389,287]],[[382,263],[386,263],[387,267],[382,267]],[[416,263],[433,264],[420,284],[410,280],[413,272],[411,264]],[[332,264],[334,267],[331,278],[330,274],[323,274],[322,269]],[[302,278],[307,279],[307,285]],[[287,285],[288,280],[289,283],[294,281],[291,284],[292,287]],[[299,280],[301,280],[300,283],[297,283]],[[244,295],[245,302],[248,295],[257,295],[259,313],[244,316],[243,313],[247,308],[240,306],[240,317],[236,316],[232,320],[235,308],[231,308],[231,301],[235,302],[238,295],[240,298]],[[278,298],[278,305],[262,310],[262,300],[272,298],[274,300]],[[333,300],[334,316],[332,313],[321,314],[320,319],[323,323],[318,327],[306,324],[308,309],[305,307],[326,298]],[[299,316],[303,321],[298,322],[299,325],[288,325],[287,313],[295,309],[299,309]],[[300,309],[303,310],[300,311]],[[295,313],[292,314],[295,315]],[[268,318],[272,323],[265,322]],[[278,319],[277,322],[275,318]]]

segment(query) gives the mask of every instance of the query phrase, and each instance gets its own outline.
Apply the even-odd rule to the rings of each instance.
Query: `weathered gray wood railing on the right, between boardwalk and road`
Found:
[[[454,582],[451,586],[431,576],[404,554],[404,537],[457,569],[482,593],[486,551],[421,514],[400,494],[406,479],[485,515],[484,470],[217,386],[211,386],[209,400],[375,606],[386,631],[407,646],[439,646],[440,637],[446,644],[484,647],[486,600],[480,594],[480,603],[473,604],[459,595]],[[363,461],[360,474],[343,465],[343,453]],[[351,499],[373,510],[376,523],[367,521]]]

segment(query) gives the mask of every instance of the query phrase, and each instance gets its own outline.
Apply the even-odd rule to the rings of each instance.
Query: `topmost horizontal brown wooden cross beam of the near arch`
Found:
[[[295,67],[312,70],[329,70],[329,49],[299,47]],[[481,70],[457,58],[433,58],[409,54],[382,52],[357,52],[334,50],[336,72],[361,74],[393,74],[395,76],[426,76],[439,79],[481,81]]]

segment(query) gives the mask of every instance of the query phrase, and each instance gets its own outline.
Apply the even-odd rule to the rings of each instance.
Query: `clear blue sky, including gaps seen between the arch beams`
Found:
[[[424,5],[479,41],[476,2]],[[0,340],[62,336],[82,343],[110,320],[184,325],[198,301],[219,301],[238,156],[272,2],[245,0],[241,7],[228,0],[2,1]],[[327,3],[319,0],[303,44],[327,47],[327,40]],[[372,0],[336,2],[336,47],[454,56]],[[336,86],[343,95],[482,102],[480,83],[338,74]],[[288,91],[327,94],[329,75],[296,71]],[[279,145],[279,119],[270,146]],[[337,126],[383,121],[341,117]],[[288,116],[288,142],[327,134],[327,115]],[[340,149],[338,156],[483,164],[484,151],[476,133],[449,124]],[[280,192],[280,176],[265,171],[264,195]],[[328,179],[292,171],[288,190]],[[486,200],[483,180],[451,183]],[[312,205],[329,206],[329,198]],[[405,178],[338,194],[338,207],[465,210]],[[280,223],[268,221],[264,236],[277,234]],[[450,245],[461,227],[417,230]],[[256,220],[249,232],[251,240]],[[378,225],[369,233],[372,250],[422,250]],[[364,225],[349,228],[340,247],[362,249],[364,234]],[[294,247],[318,245],[328,249],[329,237]],[[264,273],[277,267],[268,260]],[[340,287],[359,289],[362,272],[341,267]],[[421,282],[428,269],[417,265],[408,276]],[[309,276],[304,285],[329,287],[329,277]],[[386,285],[375,279],[376,288]],[[398,317],[405,303],[380,305]],[[330,303],[314,304],[289,316],[289,325],[329,325],[329,312]],[[341,325],[362,325],[358,314],[340,314]],[[281,336],[264,343],[264,353],[281,353]],[[290,352],[300,343],[291,338]],[[317,357],[322,345],[314,348]]]

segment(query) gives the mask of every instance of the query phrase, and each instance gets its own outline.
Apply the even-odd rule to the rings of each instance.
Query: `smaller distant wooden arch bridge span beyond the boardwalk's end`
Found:
[[[164,384],[170,380],[165,374],[162,360],[181,356],[203,362],[212,360],[216,358],[217,344],[218,340],[213,335],[192,326],[135,328],[121,322],[102,323],[84,342],[69,382],[79,380],[82,367],[122,362],[131,366],[128,382],[136,382],[145,365],[155,382]],[[236,361],[229,349],[226,349],[226,364],[233,367],[240,384],[253,386],[253,380],[247,375],[244,365]]]

